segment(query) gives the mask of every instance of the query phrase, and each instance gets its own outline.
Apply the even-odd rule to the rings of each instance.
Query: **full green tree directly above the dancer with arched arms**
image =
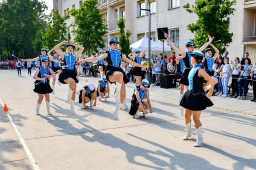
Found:
[[[101,20],[100,10],[96,7],[97,3],[86,0],[79,9],[69,11],[74,17],[72,25],[77,26],[74,41],[83,45],[84,53],[88,56],[95,55],[99,51],[98,48],[105,47],[102,36],[108,33],[107,26]]]

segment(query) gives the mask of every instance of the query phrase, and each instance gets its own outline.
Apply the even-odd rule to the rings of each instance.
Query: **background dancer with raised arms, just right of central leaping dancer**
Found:
[[[135,56],[132,56],[132,54],[135,52]],[[144,56],[145,52],[142,52],[142,54],[140,54],[140,50],[134,50],[132,51],[128,57],[130,59],[133,59],[134,62],[138,63],[139,65],[141,64],[142,61],[142,56]],[[132,75],[134,75],[136,82],[135,82],[135,86],[140,86],[141,83],[141,67],[139,66],[134,66],[134,68],[132,68]]]

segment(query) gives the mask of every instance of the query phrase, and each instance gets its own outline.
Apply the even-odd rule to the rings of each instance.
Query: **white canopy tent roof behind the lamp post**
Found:
[[[130,45],[132,50],[148,51],[148,38],[144,37],[138,42],[132,43]],[[163,45],[161,43],[154,42],[150,40],[150,50],[161,51],[163,50]],[[171,51],[171,46],[164,45],[164,51]]]

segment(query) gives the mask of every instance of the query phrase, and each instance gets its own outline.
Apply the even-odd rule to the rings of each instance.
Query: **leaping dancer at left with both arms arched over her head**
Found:
[[[60,49],[61,45],[66,45],[67,54]],[[79,48],[79,52],[73,54],[75,48]],[[84,47],[81,45],[77,45],[73,40],[69,40],[69,42],[61,42],[53,48],[59,55],[60,59],[63,60],[64,66],[62,72],[59,76],[59,81],[62,84],[69,84],[68,91],[68,104],[70,104],[70,110],[72,114],[76,114],[74,111],[74,101],[76,99],[76,84],[77,80],[77,72],[76,72],[76,59],[82,54]]]

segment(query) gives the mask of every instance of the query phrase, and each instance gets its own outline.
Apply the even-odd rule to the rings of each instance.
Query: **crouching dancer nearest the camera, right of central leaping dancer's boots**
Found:
[[[129,114],[131,114],[132,116],[134,116],[134,118],[139,119],[139,113],[143,112],[143,117],[144,118],[148,118],[147,114],[148,114],[148,107],[150,108],[150,113],[153,112],[152,110],[152,106],[150,104],[150,100],[149,100],[149,82],[147,80],[143,80],[141,81],[141,85],[140,88],[138,87],[134,94],[132,95],[132,105],[131,105],[131,110],[129,111]],[[147,98],[147,102],[143,102],[144,98]]]

